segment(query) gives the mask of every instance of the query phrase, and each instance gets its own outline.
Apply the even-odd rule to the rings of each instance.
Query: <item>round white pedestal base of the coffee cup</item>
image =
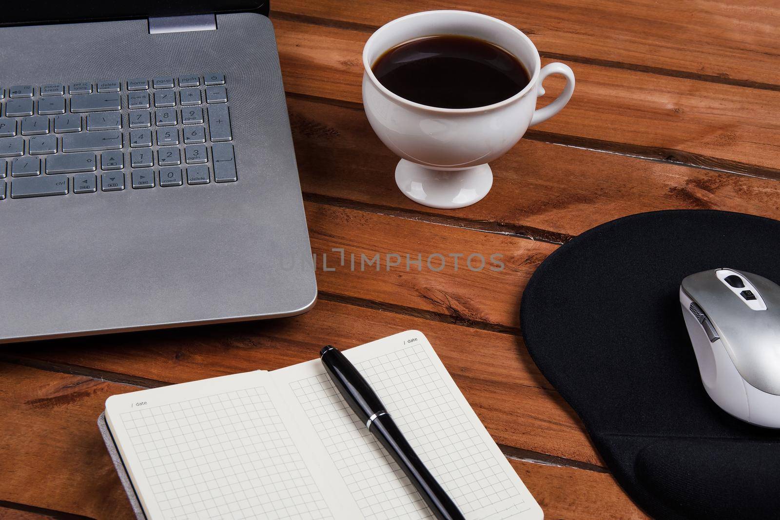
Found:
[[[395,183],[417,203],[452,210],[482,200],[493,186],[493,172],[488,164],[445,171],[401,159],[395,167]]]

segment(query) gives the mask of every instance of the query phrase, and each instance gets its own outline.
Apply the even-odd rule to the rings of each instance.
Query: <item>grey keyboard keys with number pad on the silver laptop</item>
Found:
[[[0,200],[236,182],[226,87],[220,73],[0,87]]]

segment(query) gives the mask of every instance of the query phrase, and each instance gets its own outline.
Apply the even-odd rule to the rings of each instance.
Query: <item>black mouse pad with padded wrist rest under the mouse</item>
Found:
[[[780,283],[780,222],[714,210],[619,218],[561,246],[523,292],[531,357],[654,518],[780,518],[780,430],[711,401],[683,322],[680,282],[718,267]]]

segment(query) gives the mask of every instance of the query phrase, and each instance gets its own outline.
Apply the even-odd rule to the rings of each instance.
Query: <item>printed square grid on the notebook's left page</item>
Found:
[[[264,387],[121,419],[163,518],[333,518]]]

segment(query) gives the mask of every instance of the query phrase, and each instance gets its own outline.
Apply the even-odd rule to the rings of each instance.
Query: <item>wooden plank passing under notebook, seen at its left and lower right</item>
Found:
[[[0,480],[0,496],[93,518],[134,518],[95,423],[108,395],[135,388],[0,366],[0,458],[12,469]],[[547,518],[644,518],[606,473],[511,462]]]

